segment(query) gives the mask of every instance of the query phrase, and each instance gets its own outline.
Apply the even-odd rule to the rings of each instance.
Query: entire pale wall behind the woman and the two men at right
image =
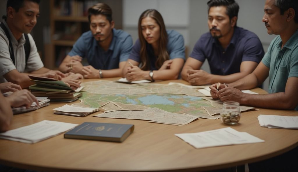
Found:
[[[184,36],[188,54],[203,33],[208,32],[209,0],[123,0],[123,29],[130,33],[133,40],[138,38],[137,22],[143,11],[149,8],[158,10],[165,21],[167,29],[174,29]],[[236,0],[240,6],[237,25],[259,36],[265,52],[275,35],[268,35],[262,22],[265,0]],[[210,72],[208,62],[203,70]],[[268,90],[268,79],[263,88]]]

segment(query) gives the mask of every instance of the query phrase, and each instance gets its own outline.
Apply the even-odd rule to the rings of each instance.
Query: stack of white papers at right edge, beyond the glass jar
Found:
[[[298,129],[298,116],[259,115],[261,127]]]

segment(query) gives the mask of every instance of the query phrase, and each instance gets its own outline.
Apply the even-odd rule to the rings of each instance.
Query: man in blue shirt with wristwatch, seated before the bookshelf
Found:
[[[90,31],[80,36],[59,70],[81,73],[84,78],[121,76],[133,46],[131,36],[123,30],[114,29],[112,10],[107,4],[95,4],[88,13]],[[82,57],[87,58],[89,66],[82,65]]]

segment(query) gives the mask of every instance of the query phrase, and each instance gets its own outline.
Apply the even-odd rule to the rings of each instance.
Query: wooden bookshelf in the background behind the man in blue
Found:
[[[76,40],[90,30],[87,10],[99,2],[112,8],[115,28],[122,29],[122,0],[50,0],[50,44],[45,45],[45,67],[58,69]]]

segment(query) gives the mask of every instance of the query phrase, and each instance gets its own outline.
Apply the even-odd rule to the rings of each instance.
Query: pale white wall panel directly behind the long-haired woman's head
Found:
[[[189,0],[123,0],[123,29],[131,34],[134,42],[138,39],[139,16],[147,9],[158,10],[166,28],[181,33],[185,44],[188,45]]]

